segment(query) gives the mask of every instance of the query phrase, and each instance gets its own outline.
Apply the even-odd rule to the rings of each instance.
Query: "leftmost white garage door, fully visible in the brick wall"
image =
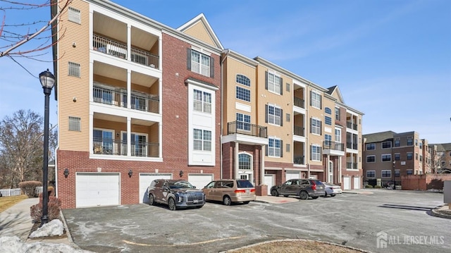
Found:
[[[75,206],[112,206],[120,204],[119,173],[77,173]]]

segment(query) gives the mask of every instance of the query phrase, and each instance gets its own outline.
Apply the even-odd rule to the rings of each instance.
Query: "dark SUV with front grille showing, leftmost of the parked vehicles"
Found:
[[[187,180],[156,179],[149,187],[149,204],[167,204],[170,210],[197,207],[205,204],[205,195],[202,190],[196,189]]]

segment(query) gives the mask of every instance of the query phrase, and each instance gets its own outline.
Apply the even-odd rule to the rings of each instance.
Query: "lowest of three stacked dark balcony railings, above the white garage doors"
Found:
[[[93,142],[94,154],[127,155],[127,142],[112,139],[96,139]],[[132,156],[159,157],[159,143],[132,142]]]

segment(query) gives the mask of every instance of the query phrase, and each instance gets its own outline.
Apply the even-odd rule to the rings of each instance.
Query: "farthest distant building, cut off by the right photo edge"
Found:
[[[451,173],[451,143],[428,144],[431,173]]]

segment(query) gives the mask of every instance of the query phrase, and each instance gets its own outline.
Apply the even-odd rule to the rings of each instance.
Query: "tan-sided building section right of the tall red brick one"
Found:
[[[230,49],[221,58],[222,178],[245,178],[268,191],[290,178],[360,187],[363,113],[344,104],[338,87]]]

